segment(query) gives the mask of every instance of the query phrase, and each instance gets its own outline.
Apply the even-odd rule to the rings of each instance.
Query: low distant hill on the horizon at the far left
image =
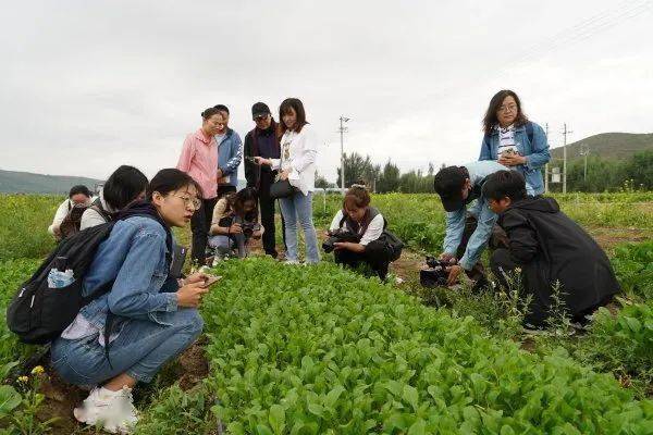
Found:
[[[0,192],[2,194],[62,194],[67,195],[71,187],[83,184],[94,189],[99,179],[63,176],[42,175],[29,172],[14,172],[0,170]]]

